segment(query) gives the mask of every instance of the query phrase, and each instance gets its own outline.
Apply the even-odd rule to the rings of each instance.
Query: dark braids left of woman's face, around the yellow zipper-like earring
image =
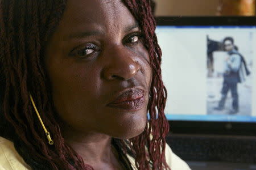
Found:
[[[86,165],[81,158],[71,148],[64,145],[59,126],[52,118],[50,109],[52,106],[47,102],[49,101],[48,95],[43,95],[47,94],[47,85],[44,83],[46,76],[40,65],[43,58],[40,55],[42,45],[47,42],[47,38],[50,37],[57,25],[61,12],[64,11],[65,2],[42,1],[43,5],[41,6],[48,5],[43,9],[49,8],[51,11],[44,11],[48,16],[41,18],[40,21],[38,18],[39,3],[40,1],[32,0],[1,1],[0,36],[3,40],[1,42],[5,43],[1,43],[1,66],[3,66],[1,74],[5,75],[5,92],[1,93],[5,95],[2,105],[3,113],[17,135],[16,138],[12,138],[16,150],[23,155],[24,160],[32,168],[72,169],[73,167],[75,169],[74,167],[80,167],[85,169]],[[42,29],[44,26],[47,27],[47,30]],[[39,29],[41,30],[39,31]],[[46,143],[45,134],[29,102],[28,89],[34,96],[40,113],[43,113],[42,118],[45,124],[53,138],[56,138],[55,147],[49,147]],[[30,155],[26,155],[27,151],[24,152],[22,147],[30,150]],[[45,164],[45,166],[39,166],[40,164]]]

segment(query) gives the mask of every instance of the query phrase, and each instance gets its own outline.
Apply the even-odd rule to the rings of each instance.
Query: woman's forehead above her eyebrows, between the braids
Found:
[[[60,26],[69,32],[84,28],[127,27],[135,23],[133,15],[120,0],[69,0]]]

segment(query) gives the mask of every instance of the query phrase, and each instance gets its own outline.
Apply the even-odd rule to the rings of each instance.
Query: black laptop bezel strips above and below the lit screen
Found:
[[[159,16],[161,26],[256,26],[254,16]],[[171,121],[171,133],[256,135],[256,122]]]

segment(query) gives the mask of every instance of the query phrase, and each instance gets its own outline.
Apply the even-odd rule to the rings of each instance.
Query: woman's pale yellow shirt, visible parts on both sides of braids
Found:
[[[127,155],[133,169],[135,168],[134,159]],[[171,170],[191,170],[187,163],[181,160],[172,152],[170,146],[166,145],[166,162]],[[15,150],[13,142],[0,137],[0,170],[28,170],[31,169]]]

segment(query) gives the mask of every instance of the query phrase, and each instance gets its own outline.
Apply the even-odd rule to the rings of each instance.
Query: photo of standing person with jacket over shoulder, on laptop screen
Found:
[[[207,39],[207,114],[251,116],[253,32],[212,32]]]

